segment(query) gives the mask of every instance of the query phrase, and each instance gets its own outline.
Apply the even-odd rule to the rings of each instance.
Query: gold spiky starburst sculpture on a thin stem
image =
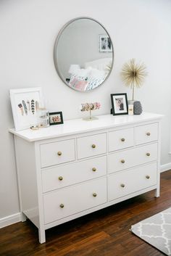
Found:
[[[146,65],[143,62],[136,63],[135,59],[130,59],[122,67],[121,77],[125,86],[130,86],[133,90],[133,100],[134,100],[134,88],[141,87],[145,80]]]

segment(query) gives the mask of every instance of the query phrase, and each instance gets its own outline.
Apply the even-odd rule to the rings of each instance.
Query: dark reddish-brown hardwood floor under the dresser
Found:
[[[3,256],[159,256],[164,255],[131,234],[129,228],[144,218],[171,207],[171,170],[161,175],[161,196],[154,191],[128,199],[46,231],[38,243],[38,230],[27,220],[0,229]]]

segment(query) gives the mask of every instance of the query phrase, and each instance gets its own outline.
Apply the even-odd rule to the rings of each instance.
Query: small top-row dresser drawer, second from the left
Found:
[[[78,159],[104,154],[107,152],[107,134],[100,133],[78,138],[77,145]]]

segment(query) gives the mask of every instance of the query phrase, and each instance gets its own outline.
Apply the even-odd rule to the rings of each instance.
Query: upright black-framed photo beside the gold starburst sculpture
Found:
[[[127,94],[111,94],[112,114],[128,115]]]

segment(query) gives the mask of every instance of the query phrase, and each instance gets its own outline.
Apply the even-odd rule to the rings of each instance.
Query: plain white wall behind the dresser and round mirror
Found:
[[[9,88],[42,86],[49,110],[62,110],[64,119],[81,117],[81,102],[101,102],[98,114],[110,110],[110,94],[128,92],[122,86],[122,64],[132,57],[146,63],[149,75],[135,91],[143,110],[164,114],[162,164],[170,161],[171,108],[170,0],[1,0],[0,1],[0,218],[19,211],[14,163]],[[54,41],[60,28],[75,17],[99,20],[114,43],[114,69],[91,93],[65,86],[53,63]],[[72,107],[70,107],[72,106]]]

